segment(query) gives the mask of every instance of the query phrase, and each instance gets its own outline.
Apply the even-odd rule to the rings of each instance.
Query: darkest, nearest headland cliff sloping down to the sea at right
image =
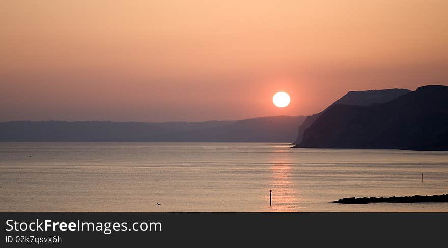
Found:
[[[448,87],[419,87],[370,106],[335,104],[297,147],[448,150]]]

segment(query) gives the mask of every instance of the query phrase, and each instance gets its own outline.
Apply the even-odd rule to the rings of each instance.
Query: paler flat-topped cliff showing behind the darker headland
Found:
[[[367,106],[378,103],[385,103],[393,100],[397,97],[403,96],[411,92],[409,89],[383,89],[383,90],[366,90],[366,91],[350,91],[344,95],[341,99],[335,101],[325,110],[320,113],[308,116],[302,125],[299,126],[299,131],[297,134],[297,139],[295,144],[300,144],[302,142],[303,134],[305,130],[313,125],[314,121],[319,118],[319,116],[324,113],[328,108],[337,104],[347,104],[347,105],[359,105]]]

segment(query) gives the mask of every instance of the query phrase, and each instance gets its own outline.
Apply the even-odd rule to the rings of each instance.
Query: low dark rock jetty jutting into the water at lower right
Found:
[[[416,203],[416,202],[448,202],[448,194],[433,195],[433,196],[393,196],[393,197],[350,197],[343,198],[333,203],[342,204],[367,204],[376,202],[390,202],[390,203]]]

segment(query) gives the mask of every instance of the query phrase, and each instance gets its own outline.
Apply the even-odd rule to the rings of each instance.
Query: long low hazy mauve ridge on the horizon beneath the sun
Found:
[[[10,121],[0,142],[287,142],[305,116],[204,122]]]

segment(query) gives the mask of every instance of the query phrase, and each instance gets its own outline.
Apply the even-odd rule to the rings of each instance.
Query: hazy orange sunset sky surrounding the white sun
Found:
[[[313,114],[448,84],[448,1],[2,1],[0,121]],[[291,104],[272,104],[286,91]]]

